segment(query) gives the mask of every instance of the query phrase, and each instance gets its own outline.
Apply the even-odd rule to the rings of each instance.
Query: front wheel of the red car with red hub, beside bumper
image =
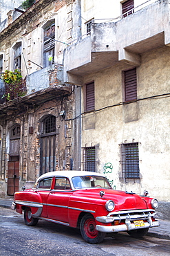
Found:
[[[81,235],[89,244],[98,244],[105,238],[105,233],[96,230],[96,221],[91,214],[85,214],[81,219]]]

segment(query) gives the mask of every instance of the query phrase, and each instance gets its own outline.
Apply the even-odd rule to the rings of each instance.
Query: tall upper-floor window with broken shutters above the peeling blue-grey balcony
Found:
[[[43,46],[44,67],[54,63],[55,47],[55,23],[53,22],[44,29],[44,46]]]

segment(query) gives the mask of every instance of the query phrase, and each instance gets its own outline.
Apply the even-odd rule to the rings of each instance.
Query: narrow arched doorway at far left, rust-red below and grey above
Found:
[[[8,190],[7,194],[14,195],[19,191],[19,149],[20,149],[21,127],[14,125],[10,129],[10,152],[8,161]]]

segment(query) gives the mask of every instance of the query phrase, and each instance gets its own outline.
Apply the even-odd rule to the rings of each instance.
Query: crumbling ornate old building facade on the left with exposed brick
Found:
[[[72,125],[80,89],[63,82],[63,48],[80,33],[72,25],[77,9],[74,1],[41,0],[1,24],[2,75],[21,70],[27,90],[18,97],[1,80],[1,196],[32,187],[45,172],[80,170],[80,120]]]

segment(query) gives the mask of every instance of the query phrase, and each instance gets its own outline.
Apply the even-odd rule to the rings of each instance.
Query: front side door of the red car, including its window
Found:
[[[72,196],[70,181],[66,177],[55,177],[54,188],[47,199],[47,217],[65,223],[68,221],[68,203]]]

